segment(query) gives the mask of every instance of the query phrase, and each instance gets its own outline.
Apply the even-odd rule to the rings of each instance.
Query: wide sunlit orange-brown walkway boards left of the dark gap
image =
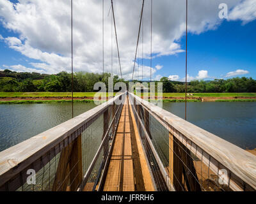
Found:
[[[134,191],[134,166],[127,99],[125,100],[117,129],[103,190]]]

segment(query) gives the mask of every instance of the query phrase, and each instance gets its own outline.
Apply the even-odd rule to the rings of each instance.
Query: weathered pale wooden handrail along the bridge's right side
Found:
[[[190,122],[173,115],[140,97],[129,92],[138,103],[150,112],[168,131],[193,152],[202,161],[209,164],[214,173],[219,169],[227,168],[230,175],[230,187],[236,191],[243,191],[244,182],[252,189],[256,189],[256,156],[222,138],[205,131]],[[204,153],[203,153],[204,152]],[[207,154],[205,154],[205,152]],[[222,166],[220,166],[220,164]]]

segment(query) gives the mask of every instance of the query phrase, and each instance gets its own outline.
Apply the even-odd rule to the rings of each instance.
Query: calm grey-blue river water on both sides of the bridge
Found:
[[[74,115],[95,107],[74,103]],[[184,118],[184,103],[163,103]],[[70,103],[0,105],[0,151],[71,119]],[[188,103],[188,121],[243,149],[256,148],[256,103]]]

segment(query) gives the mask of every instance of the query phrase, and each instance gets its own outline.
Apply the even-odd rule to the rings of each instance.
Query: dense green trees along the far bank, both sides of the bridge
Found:
[[[109,73],[74,73],[74,92],[93,92],[93,85],[96,82],[104,82],[108,88],[109,77]],[[0,92],[70,92],[71,80],[71,74],[66,71],[56,75],[45,75],[17,73],[5,69],[0,71]],[[167,77],[161,78],[160,81],[163,82],[163,92],[185,92],[184,82],[171,82]],[[116,82],[124,80],[115,76],[114,84]],[[246,77],[215,79],[208,82],[195,80],[188,83],[188,92],[256,92],[256,80]]]

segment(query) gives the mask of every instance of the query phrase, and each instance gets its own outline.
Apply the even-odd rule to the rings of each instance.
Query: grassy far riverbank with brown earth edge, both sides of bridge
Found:
[[[96,92],[74,92],[75,102],[92,102]],[[116,93],[106,93],[108,96]],[[141,98],[146,98],[141,96]],[[154,98],[154,99],[157,99]],[[159,98],[158,98],[159,99]],[[185,102],[184,93],[163,93],[163,102]],[[71,92],[0,92],[0,104],[71,102]],[[188,102],[256,102],[256,93],[189,93]]]

